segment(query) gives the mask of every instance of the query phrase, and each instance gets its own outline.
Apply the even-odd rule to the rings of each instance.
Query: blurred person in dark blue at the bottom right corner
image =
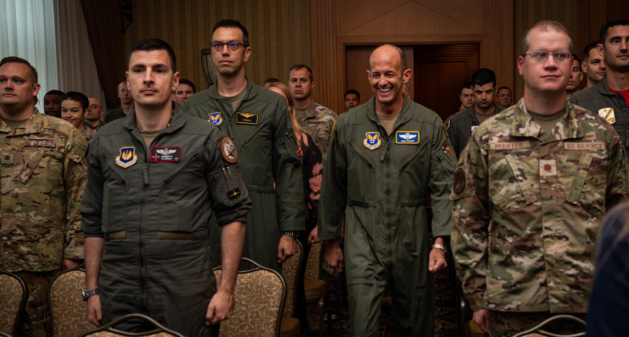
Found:
[[[587,308],[587,337],[629,335],[629,203],[603,223]]]

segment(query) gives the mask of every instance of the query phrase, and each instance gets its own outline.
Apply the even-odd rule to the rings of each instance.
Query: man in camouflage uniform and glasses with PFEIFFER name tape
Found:
[[[584,316],[601,219],[628,192],[613,126],[565,99],[571,48],[555,21],[527,31],[523,99],[474,131],[454,174],[454,259],[474,321],[492,336]]]

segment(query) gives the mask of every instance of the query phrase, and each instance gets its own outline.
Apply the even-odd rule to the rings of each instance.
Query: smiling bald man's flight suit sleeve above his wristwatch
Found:
[[[437,118],[437,116],[435,116]],[[450,140],[445,136],[443,124],[435,120],[433,130],[432,159],[430,165],[430,201],[433,209],[433,236],[448,236],[452,232],[452,202],[448,199],[452,190],[452,177],[457,160]]]

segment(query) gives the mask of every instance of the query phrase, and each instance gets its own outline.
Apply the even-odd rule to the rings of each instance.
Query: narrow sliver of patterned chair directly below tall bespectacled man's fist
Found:
[[[297,337],[301,330],[299,319],[295,318],[295,304],[297,301],[297,275],[301,270],[301,253],[304,251],[301,242],[295,240],[299,246],[297,253],[282,263],[282,277],[286,282],[286,305],[282,316],[280,337]]]

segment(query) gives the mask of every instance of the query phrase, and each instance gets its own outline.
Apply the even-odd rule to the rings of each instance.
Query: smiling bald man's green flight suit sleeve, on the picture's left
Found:
[[[319,201],[318,236],[321,240],[341,237],[341,221],[347,207],[347,151],[343,139],[343,118],[337,119],[323,170]]]

